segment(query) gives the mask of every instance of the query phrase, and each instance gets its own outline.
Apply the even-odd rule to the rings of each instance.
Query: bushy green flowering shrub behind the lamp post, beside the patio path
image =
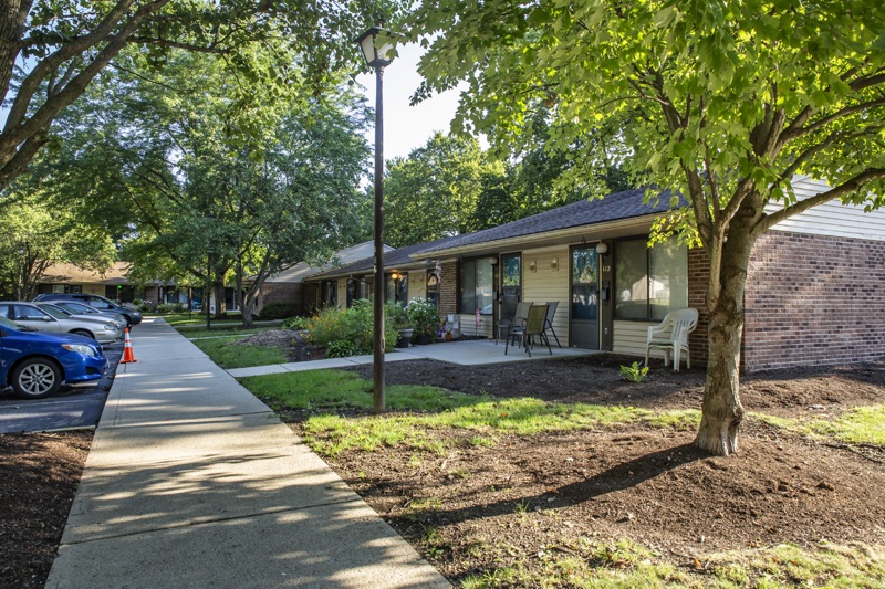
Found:
[[[325,307],[308,320],[312,343],[329,346],[333,341],[347,341],[355,354],[371,354],[373,349],[374,313],[372,302],[354,302],[348,309]],[[393,351],[399,336],[389,323],[384,324],[385,351]]]

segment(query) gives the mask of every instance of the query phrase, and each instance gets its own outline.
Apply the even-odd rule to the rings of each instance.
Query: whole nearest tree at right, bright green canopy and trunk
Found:
[[[687,199],[675,227],[710,261],[709,361],[695,444],[736,452],[753,244],[824,202],[883,203],[885,8],[868,0],[435,0],[412,24],[433,39],[420,65],[426,91],[469,84],[458,119],[466,128],[507,141],[545,101],[555,113],[551,148],[591,138],[621,144],[634,178]],[[832,189],[798,200],[796,173],[825,178]]]

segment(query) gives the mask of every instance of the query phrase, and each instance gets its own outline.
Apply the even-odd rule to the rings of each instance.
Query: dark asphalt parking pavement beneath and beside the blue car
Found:
[[[104,355],[107,370],[101,380],[90,386],[62,387],[46,399],[19,399],[10,391],[0,393],[0,433],[95,427],[123,356],[123,344],[104,346]]]

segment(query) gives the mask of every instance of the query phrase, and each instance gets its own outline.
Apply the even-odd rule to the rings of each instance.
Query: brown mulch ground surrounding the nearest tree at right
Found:
[[[621,379],[622,364],[628,362],[616,356],[469,368],[418,360],[385,372],[388,383],[497,397],[700,408],[702,369],[656,366],[634,385]],[[353,370],[372,378],[372,367]],[[741,397],[750,412],[834,418],[885,402],[885,364],[749,375]],[[531,567],[548,547],[577,538],[628,538],[693,570],[719,550],[823,539],[885,544],[882,449],[785,434],[750,416],[740,452],[711,457],[690,445],[694,433],[638,425],[508,435],[493,448],[461,444],[442,456],[416,460],[414,451],[383,448],[330,464],[454,581],[508,564]],[[416,513],[415,504],[435,507]],[[476,549],[501,544],[503,551]]]

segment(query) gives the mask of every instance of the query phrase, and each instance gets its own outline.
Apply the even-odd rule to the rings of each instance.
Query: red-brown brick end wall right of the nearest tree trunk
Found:
[[[745,295],[746,370],[885,358],[885,243],[771,231]]]

